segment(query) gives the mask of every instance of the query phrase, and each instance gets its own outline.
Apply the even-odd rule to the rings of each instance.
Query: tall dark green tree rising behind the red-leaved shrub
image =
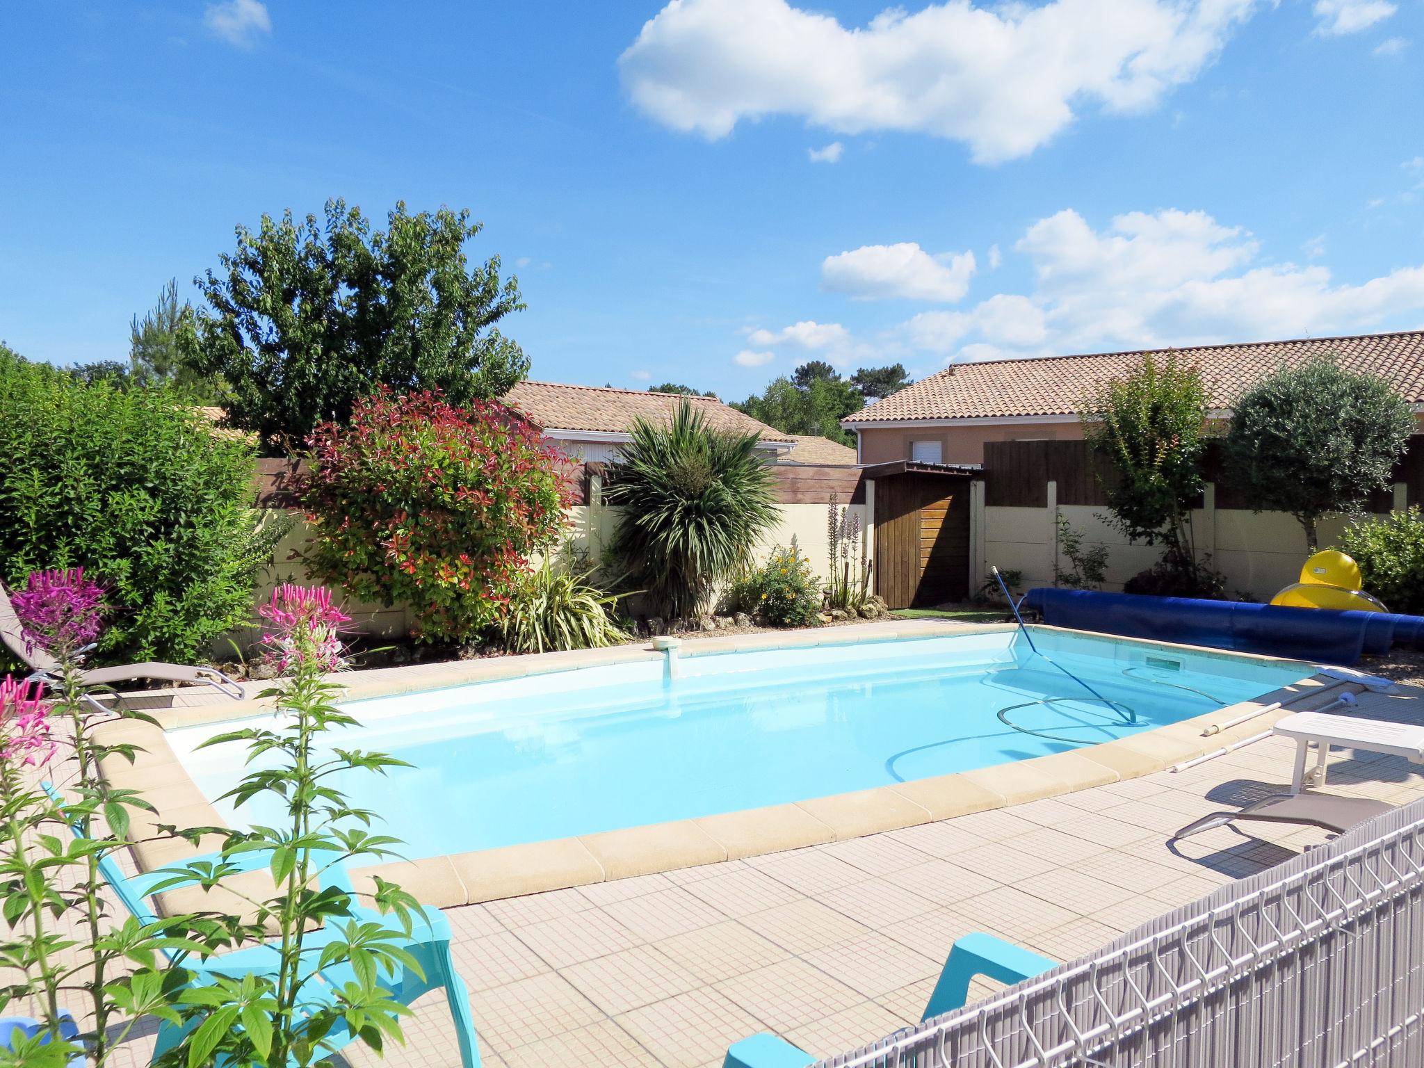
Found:
[[[470,266],[480,232],[466,211],[412,215],[404,202],[372,231],[359,208],[326,202],[325,218],[262,216],[238,226],[221,272],[194,279],[211,305],[185,365],[219,375],[228,422],[290,450],[323,422],[345,423],[380,384],[440,389],[454,404],[506,393],[528,370],[494,325],[520,310],[500,259]]]

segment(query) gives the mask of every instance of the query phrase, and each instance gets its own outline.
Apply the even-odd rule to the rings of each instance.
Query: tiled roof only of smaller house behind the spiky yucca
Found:
[[[611,386],[568,386],[561,382],[521,382],[503,397],[544,430],[592,430],[624,434],[638,416],[665,422],[682,400],[692,402],[719,430],[756,434],[762,441],[790,441],[790,434],[773,430],[716,397],[684,397],[679,393],[612,389]]]

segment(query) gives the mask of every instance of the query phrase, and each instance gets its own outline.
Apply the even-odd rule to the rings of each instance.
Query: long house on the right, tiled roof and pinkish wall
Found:
[[[977,464],[985,441],[1081,439],[1084,396],[1138,367],[1148,352],[1163,350],[957,363],[847,416],[842,426],[856,431],[864,464]],[[1172,352],[1200,367],[1213,417],[1229,417],[1236,399],[1263,376],[1313,356],[1333,356],[1343,367],[1378,375],[1414,407],[1417,419],[1424,413],[1424,330]]]

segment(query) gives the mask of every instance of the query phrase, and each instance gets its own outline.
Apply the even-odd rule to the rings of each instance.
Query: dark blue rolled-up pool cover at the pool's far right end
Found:
[[[1233,652],[1354,664],[1393,646],[1424,649],[1424,617],[1393,612],[1286,608],[1190,597],[1105,594],[1096,590],[1030,590],[1021,602],[1044,622],[1074,631],[1205,645]]]

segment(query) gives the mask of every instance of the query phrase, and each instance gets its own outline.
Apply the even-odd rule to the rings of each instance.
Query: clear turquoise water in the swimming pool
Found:
[[[682,656],[678,678],[662,664],[622,664],[483,682],[352,702],[363,725],[333,740],[414,765],[342,786],[422,857],[1042,756],[1313,672],[1112,638],[1035,641],[1042,656],[1018,634],[975,634]],[[232,726],[169,732],[209,799],[236,783],[241,756],[194,748]],[[218,809],[232,826],[279,819]]]

